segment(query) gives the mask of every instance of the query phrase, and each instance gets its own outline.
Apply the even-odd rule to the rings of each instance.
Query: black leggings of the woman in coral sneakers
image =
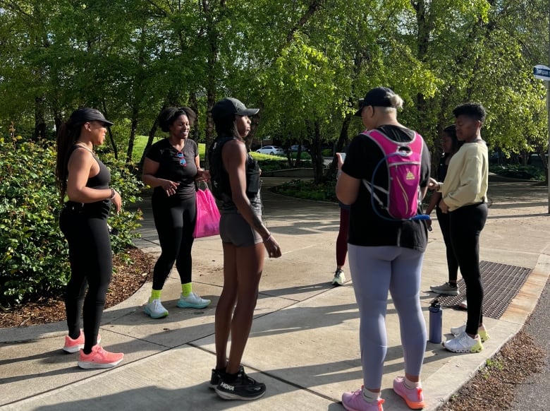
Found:
[[[64,208],[59,226],[69,246],[71,279],[65,294],[68,334],[80,335],[80,316],[84,323],[84,351],[97,344],[105,296],[113,270],[113,254],[107,221]],[[88,291],[86,292],[86,286]]]

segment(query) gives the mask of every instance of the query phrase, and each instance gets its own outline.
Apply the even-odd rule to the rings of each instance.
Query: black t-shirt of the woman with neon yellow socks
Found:
[[[178,157],[178,150],[173,148],[168,138],[154,143],[147,152],[147,158],[159,163],[159,169],[154,177],[166,179],[179,183],[176,190],[177,198],[190,198],[195,196],[195,177],[197,176],[197,165],[195,157],[199,155],[197,143],[193,140],[185,140],[183,146],[183,160]],[[155,187],[155,191],[162,191],[162,187]]]

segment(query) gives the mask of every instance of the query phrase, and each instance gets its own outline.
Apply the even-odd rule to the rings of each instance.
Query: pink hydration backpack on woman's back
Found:
[[[420,165],[424,141],[415,131],[412,141],[399,142],[379,130],[364,131],[362,134],[377,143],[384,153],[372,172],[372,181],[363,179],[371,194],[372,208],[384,220],[424,220],[427,215],[417,215],[420,199]],[[382,167],[384,165],[384,167]],[[388,186],[374,185],[377,172],[388,173]],[[390,218],[380,210],[386,211]]]

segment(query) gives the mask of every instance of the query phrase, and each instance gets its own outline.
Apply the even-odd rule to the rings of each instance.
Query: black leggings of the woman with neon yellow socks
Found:
[[[157,227],[161,246],[161,255],[153,270],[153,290],[162,290],[174,261],[181,283],[191,282],[191,247],[197,219],[195,196],[181,199],[154,193],[152,206],[154,226]]]

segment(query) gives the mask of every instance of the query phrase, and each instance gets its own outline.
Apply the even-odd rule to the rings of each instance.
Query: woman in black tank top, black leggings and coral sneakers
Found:
[[[111,173],[93,147],[104,142],[111,125],[101,112],[83,108],[71,114],[57,135],[56,183],[64,203],[59,225],[71,263],[65,295],[68,335],[63,350],[80,352],[78,367],[85,369],[114,367],[124,357],[99,345],[113,258],[107,217],[111,204],[118,213],[122,200],[109,188]]]

